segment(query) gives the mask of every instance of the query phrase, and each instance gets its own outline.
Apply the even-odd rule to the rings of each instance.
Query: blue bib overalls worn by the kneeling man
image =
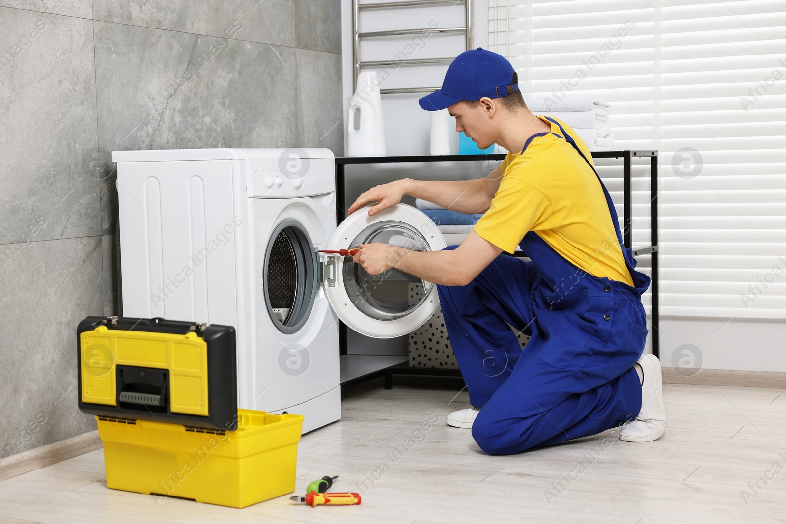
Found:
[[[564,128],[549,120],[592,167]],[[545,134],[534,134],[523,149]],[[623,246],[603,181],[601,187]],[[641,409],[633,365],[648,333],[640,296],[650,278],[634,269],[630,248],[623,247],[623,255],[633,287],[578,269],[534,231],[520,246],[531,262],[500,255],[470,284],[438,286],[469,401],[483,408],[472,437],[494,455],[597,434],[633,420]],[[523,350],[508,324],[531,335]]]

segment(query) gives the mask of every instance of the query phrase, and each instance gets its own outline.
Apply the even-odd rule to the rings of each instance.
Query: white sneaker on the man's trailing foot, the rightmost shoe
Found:
[[[660,438],[666,430],[666,408],[663,406],[663,382],[660,361],[653,354],[642,354],[641,411],[636,420],[625,423],[619,438],[627,442],[650,442]]]

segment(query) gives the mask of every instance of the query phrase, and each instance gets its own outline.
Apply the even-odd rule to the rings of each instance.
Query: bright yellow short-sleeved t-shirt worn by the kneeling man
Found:
[[[562,136],[559,127],[544,116],[538,118]],[[566,123],[557,121],[591,162],[584,141]],[[500,171],[499,189],[475,225],[476,233],[512,253],[523,236],[534,231],[586,273],[634,285],[601,181],[564,138],[534,137],[523,154],[508,153]]]

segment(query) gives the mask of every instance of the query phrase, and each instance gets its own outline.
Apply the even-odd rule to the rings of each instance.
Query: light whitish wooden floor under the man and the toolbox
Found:
[[[340,475],[336,491],[376,476],[360,506],[310,508],[287,496],[237,510],[116,491],[105,487],[97,451],[0,482],[0,522],[786,522],[786,390],[666,384],[669,427],[659,441],[604,446],[609,431],[487,456],[468,430],[444,425],[447,412],[467,406],[466,392],[451,401],[453,384],[355,387],[343,420],[303,437],[298,493],[323,475]],[[429,416],[439,423],[414,434]],[[421,442],[391,460],[410,437]],[[593,449],[594,461],[585,454]],[[390,469],[377,475],[383,462]],[[553,482],[563,475],[575,480],[559,493]]]

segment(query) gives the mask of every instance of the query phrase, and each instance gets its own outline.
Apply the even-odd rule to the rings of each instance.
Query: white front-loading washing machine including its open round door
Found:
[[[303,415],[303,432],[341,417],[338,321],[391,338],[438,306],[435,285],[398,269],[369,275],[327,255],[384,242],[445,247],[428,217],[399,204],[336,225],[329,149],[119,151],[123,315],[237,330],[238,406]]]

